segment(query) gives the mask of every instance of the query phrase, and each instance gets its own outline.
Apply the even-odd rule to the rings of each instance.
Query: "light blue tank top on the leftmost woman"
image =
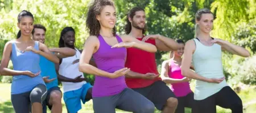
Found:
[[[22,51],[18,50],[15,42],[12,44],[11,51],[11,62],[13,62],[13,69],[17,71],[31,71],[32,73],[37,73],[40,71],[39,54],[35,54],[32,51]],[[39,42],[35,41],[34,48],[39,50]],[[11,83],[11,94],[20,94],[29,92],[35,88],[38,84],[44,84],[41,75],[36,77],[30,77],[27,75],[17,75],[13,76],[13,82]]]

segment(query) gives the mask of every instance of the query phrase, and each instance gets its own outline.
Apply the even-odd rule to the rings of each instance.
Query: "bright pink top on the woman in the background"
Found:
[[[168,75],[172,79],[182,79],[184,76],[181,75],[181,69],[177,66],[173,60],[170,61],[170,69]],[[174,92],[176,97],[184,97],[188,93],[191,93],[189,82],[180,82],[171,84],[171,90]]]

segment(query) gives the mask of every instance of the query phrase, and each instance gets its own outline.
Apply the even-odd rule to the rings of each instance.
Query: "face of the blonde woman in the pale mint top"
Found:
[[[213,27],[213,15],[202,14],[200,21],[196,21],[199,24],[200,32],[210,33]]]

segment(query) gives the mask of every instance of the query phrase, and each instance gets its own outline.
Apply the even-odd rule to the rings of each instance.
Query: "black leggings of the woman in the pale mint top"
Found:
[[[192,108],[193,113],[216,113],[216,105],[223,108],[230,108],[232,113],[242,113],[242,100],[234,90],[225,86],[220,92],[211,95],[203,100],[195,100],[195,106]]]

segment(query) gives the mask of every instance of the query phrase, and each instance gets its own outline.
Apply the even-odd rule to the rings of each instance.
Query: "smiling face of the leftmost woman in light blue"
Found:
[[[34,20],[31,16],[23,16],[19,23],[17,23],[20,32],[23,36],[30,36],[33,28],[34,28]]]

